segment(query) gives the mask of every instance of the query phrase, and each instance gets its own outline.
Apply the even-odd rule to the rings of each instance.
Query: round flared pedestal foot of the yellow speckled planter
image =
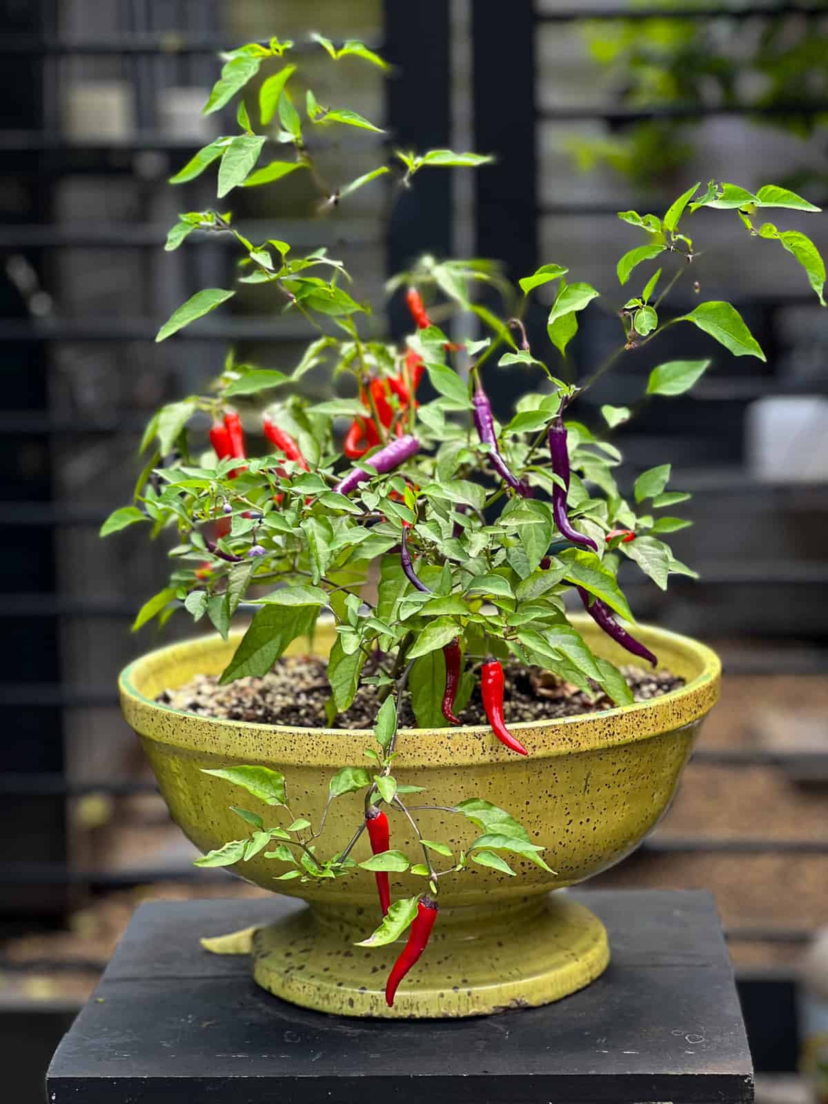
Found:
[[[385,978],[405,936],[384,947],[354,946],[379,923],[369,912],[314,905],[259,928],[255,980],[284,1000],[340,1016],[487,1016],[560,1000],[609,962],[604,925],[564,892],[443,909],[425,955],[388,1008]]]

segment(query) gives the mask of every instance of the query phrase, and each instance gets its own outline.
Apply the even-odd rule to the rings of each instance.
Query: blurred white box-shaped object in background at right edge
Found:
[[[828,479],[828,400],[758,399],[745,418],[747,469],[762,482]]]

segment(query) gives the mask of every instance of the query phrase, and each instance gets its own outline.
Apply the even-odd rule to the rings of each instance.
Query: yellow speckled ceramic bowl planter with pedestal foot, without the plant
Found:
[[[617,664],[628,655],[587,617],[576,617],[593,650]],[[315,650],[332,641],[320,625]],[[397,740],[394,775],[427,787],[423,802],[453,806],[484,797],[512,813],[546,848],[551,874],[510,856],[510,878],[476,867],[440,884],[434,948],[400,988],[393,1009],[382,999],[384,978],[399,945],[368,949],[353,944],[379,922],[373,874],[297,884],[274,882],[282,863],[261,854],[234,868],[240,877],[306,900],[310,907],[257,932],[256,980],[286,1000],[347,1016],[475,1016],[548,1004],[587,985],[608,962],[601,922],[565,894],[550,895],[623,859],[667,809],[704,715],[719,697],[720,662],[703,645],[662,629],[638,626],[636,636],[661,666],[687,681],[647,702],[556,721],[510,725],[529,749],[508,752],[482,725],[405,729]],[[217,673],[238,643],[219,637],[171,645],[127,667],[120,677],[124,714],[141,737],[172,818],[203,851],[238,838],[241,821],[230,806],[255,799],[202,767],[257,763],[284,772],[296,816],[318,822],[329,776],[364,766],[364,731],[294,729],[211,720],[159,705],[153,698],[198,673]],[[291,651],[307,649],[295,641]],[[412,803],[413,804],[413,803]],[[331,806],[323,853],[341,850],[361,819],[362,796]],[[266,824],[283,822],[278,809]],[[447,813],[418,814],[427,839],[468,848],[474,827]],[[407,830],[406,830],[407,829]],[[393,817],[394,845],[414,853],[403,817]],[[363,839],[354,851],[368,857]],[[394,896],[423,890],[423,879],[392,874]],[[215,935],[215,932],[194,933]]]

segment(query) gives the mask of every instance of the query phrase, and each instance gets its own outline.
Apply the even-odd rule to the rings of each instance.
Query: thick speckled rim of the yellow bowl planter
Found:
[[[576,615],[572,620],[587,631],[592,625],[585,615]],[[323,634],[322,626],[320,629]],[[508,752],[485,724],[401,729],[397,766],[427,767],[433,760],[429,746],[435,749],[437,742],[443,755],[448,745],[450,761],[457,765],[490,762],[527,764],[533,758],[611,747],[659,735],[691,724],[709,712],[719,697],[721,662],[716,654],[691,637],[667,629],[639,625],[636,633],[656,652],[662,648],[691,662],[698,671],[696,677],[669,693],[630,705],[510,724],[510,729],[522,734],[521,739],[530,749],[528,760]],[[231,634],[230,644],[237,644],[242,635],[243,630]],[[160,704],[137,688],[136,683],[142,681],[142,676],[157,671],[164,660],[172,664],[182,651],[192,652],[195,649],[206,654],[216,646],[226,648],[227,644],[221,641],[217,635],[210,635],[166,645],[139,657],[121,671],[118,679],[121,708],[127,721],[141,736],[193,750],[215,747],[220,743],[221,754],[234,761],[261,762],[275,757],[283,763],[320,765],[363,762],[362,750],[370,730],[300,728],[205,718]],[[297,740],[297,736],[307,737],[311,733],[312,739]]]

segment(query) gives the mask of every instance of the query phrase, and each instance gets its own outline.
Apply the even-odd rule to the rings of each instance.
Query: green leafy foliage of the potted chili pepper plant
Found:
[[[337,46],[317,35],[316,42],[337,65],[355,59],[384,67],[382,59],[355,40]],[[392,166],[372,168],[350,182],[320,182],[305,144],[305,130],[312,134],[316,126],[327,124],[378,128],[349,109],[321,105],[302,83],[298,62],[276,68],[274,63],[290,46],[273,39],[267,45],[250,43],[225,54],[221,79],[208,104],[210,112],[230,105],[262,66],[274,67],[275,72],[263,73],[258,115],[265,125],[274,126],[275,134],[257,135],[246,107],[236,103],[241,132],[204,147],[174,181],[193,180],[220,160],[217,192],[223,197],[238,187],[278,187],[279,181],[302,169],[297,180],[329,209],[392,172],[406,185],[417,187],[416,174],[424,168],[477,168],[491,160],[444,149],[395,151]],[[288,147],[289,153],[256,170],[268,138]],[[804,267],[821,300],[825,268],[816,247],[799,231],[771,223],[754,229],[752,219],[764,206],[798,213],[811,210],[807,200],[785,188],[767,184],[749,192],[736,184],[711,181],[703,193],[698,184],[684,190],[664,219],[620,212],[633,241],[618,263],[619,282],[626,284],[636,266],[646,261],[658,257],[661,267],[641,280],[640,297],[626,302],[605,297],[608,312],[620,323],[618,349],[607,365],[576,382],[574,371],[567,374],[571,365],[561,370],[566,380],[554,375],[550,359],[565,357],[580,320],[590,316],[583,311],[599,293],[590,284],[567,283],[570,272],[561,264],[545,264],[524,276],[521,296],[492,262],[425,256],[408,272],[392,277],[389,293],[416,288],[424,297],[431,325],[412,325],[405,341],[393,343],[378,336],[376,323],[369,317],[371,305],[350,283],[343,262],[325,247],[302,255],[279,238],[250,241],[236,230],[230,212],[210,209],[179,215],[168,235],[168,250],[178,248],[194,231],[200,237],[227,235],[238,250],[238,280],[257,285],[255,294],[270,304],[270,309],[283,309],[307,325],[312,340],[295,367],[295,362],[269,368],[238,363],[231,353],[206,394],[167,403],[150,420],[141,442],[141,450],[150,455],[135,500],[116,510],[102,527],[102,534],[107,535],[147,521],[151,537],[170,538],[169,585],[145,603],[134,628],[153,620],[163,625],[173,613],[183,611],[194,623],[210,623],[226,639],[244,605],[248,624],[221,675],[221,682],[227,683],[265,676],[295,640],[307,639],[312,645],[317,619],[323,616],[332,624],[336,639],[327,668],[331,697],[320,726],[326,722],[341,724],[339,714],[358,694],[360,707],[376,702],[375,715],[361,721],[364,757],[361,754],[355,763],[320,778],[325,811],[316,825],[306,808],[289,808],[286,779],[277,771],[257,765],[206,771],[222,785],[229,784],[229,789],[244,790],[264,803],[268,816],[278,817],[280,822],[269,824],[257,810],[230,805],[250,829],[248,835],[198,860],[200,866],[232,866],[255,859],[277,864],[274,879],[304,882],[354,872],[368,878],[369,872],[407,871],[426,880],[429,894],[437,893],[440,878],[460,874],[473,864],[507,875],[524,863],[550,870],[543,848],[523,826],[480,797],[463,802],[455,810],[443,810],[464,818],[469,837],[476,830],[464,851],[456,856],[457,848],[446,840],[421,838],[414,816],[417,807],[410,810],[405,798],[422,787],[402,768],[400,781],[396,777],[399,764],[405,762],[397,761],[396,751],[397,725],[406,723],[400,722],[406,716],[400,712],[401,707],[407,710],[405,690],[418,725],[445,728],[444,649],[457,640],[461,662],[455,710],[468,702],[480,665],[489,656],[501,661],[516,657],[588,694],[601,689],[615,705],[631,701],[620,672],[587,645],[580,622],[570,623],[564,598],[577,587],[633,622],[618,582],[619,564],[635,564],[660,588],[668,585],[671,575],[693,574],[676,560],[665,540],[687,522],[656,517],[656,511],[688,497],[667,489],[670,465],[640,474],[628,497],[627,474],[623,468],[618,473],[624,458],[607,439],[607,431],[625,425],[652,396],[689,391],[711,361],[659,364],[637,401],[630,397],[628,406],[601,407],[601,427],[591,429],[573,420],[570,406],[592,389],[607,367],[623,361],[629,350],[657,340],[678,321],[692,322],[729,353],[764,360],[729,302],[700,302],[680,319],[668,314],[669,306],[662,306],[676,280],[703,263],[686,233],[693,211],[701,208],[721,212],[716,217],[740,219],[751,232],[745,236],[746,250],[761,247],[763,240],[782,244]],[[665,290],[654,299],[661,286]],[[234,294],[224,288],[197,291],[160,328],[157,340],[197,321]],[[549,343],[538,341],[528,348],[521,310],[527,306],[524,297],[532,294],[551,301]],[[444,327],[448,328],[455,316],[479,321],[487,336],[477,340],[461,332],[460,340],[454,335],[449,338]],[[720,354],[726,353],[720,350]],[[412,374],[415,365],[417,371],[420,368],[412,357],[422,360],[437,393],[432,402],[423,401],[422,395],[421,405],[410,401]],[[499,365],[502,371],[523,374],[540,370],[546,389],[522,395],[505,425],[495,425],[496,444],[474,433],[476,381],[464,370],[471,359],[479,380],[488,358],[492,358],[491,367]],[[316,402],[293,393],[297,381],[311,371],[325,372],[332,381],[330,392],[317,394]],[[267,443],[262,455],[251,448],[246,455],[219,459],[208,447],[205,431],[212,425],[212,439],[217,440],[222,418],[235,412],[236,402],[251,434],[266,415]],[[553,470],[545,442],[548,427],[559,414],[565,415],[569,486],[561,471]],[[359,452],[352,442],[349,456],[342,455],[342,418],[357,420],[361,434],[375,420],[376,443],[372,439],[359,458],[350,455]],[[383,470],[388,463],[381,463],[374,449],[408,434],[416,438],[418,450]],[[521,481],[521,488],[524,484],[531,487],[532,498],[514,493],[511,482],[502,481],[502,465]],[[352,466],[361,469],[362,478],[355,486],[342,484]],[[593,541],[597,551],[574,546],[559,531],[551,498],[561,488],[566,492],[570,524]],[[609,537],[619,526],[635,533],[630,542],[617,534]],[[400,554],[403,527],[412,556],[407,574]],[[412,583],[412,572],[418,587]],[[445,739],[450,740],[450,732]],[[234,798],[237,795],[231,792],[229,802]],[[439,795],[434,800],[438,803]],[[328,854],[325,847],[326,818],[335,802],[335,815],[351,810],[355,822],[353,839],[341,854]],[[381,807],[395,820],[397,840],[413,840],[422,856],[412,859],[394,848],[373,857],[364,850],[354,851],[352,858],[350,852],[364,846],[361,830],[364,810],[371,806]],[[444,869],[435,869],[435,864]],[[400,938],[416,906],[417,898],[395,902],[363,945]]]

